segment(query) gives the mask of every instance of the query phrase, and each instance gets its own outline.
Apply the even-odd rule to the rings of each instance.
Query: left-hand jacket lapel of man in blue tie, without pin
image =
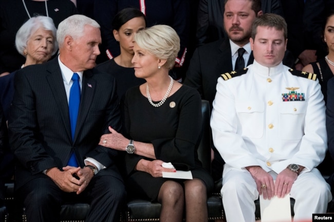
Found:
[[[69,122],[69,111],[66,91],[64,87],[64,80],[62,72],[58,64],[58,57],[55,57],[48,63],[46,78],[50,85],[55,102],[58,105],[59,113],[63,119],[67,136],[71,141],[71,126]]]

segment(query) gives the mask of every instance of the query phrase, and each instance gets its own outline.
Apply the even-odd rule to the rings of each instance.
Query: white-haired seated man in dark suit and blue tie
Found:
[[[121,128],[115,80],[94,68],[100,26],[72,15],[60,23],[57,40],[58,57],[15,75],[9,116],[15,192],[28,221],[59,221],[68,200],[90,204],[86,222],[119,220],[126,193],[117,153],[98,146],[108,126]]]

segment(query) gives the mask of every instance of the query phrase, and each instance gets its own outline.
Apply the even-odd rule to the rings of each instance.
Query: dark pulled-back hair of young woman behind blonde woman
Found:
[[[127,21],[129,21],[133,18],[136,18],[136,17],[143,17],[144,20],[145,20],[145,25],[146,25],[146,23],[147,23],[146,22],[146,17],[139,9],[136,9],[136,8],[122,9],[121,11],[119,11],[115,15],[115,17],[113,19],[113,22],[112,22],[113,29],[118,31],[121,28],[122,25],[127,23]]]

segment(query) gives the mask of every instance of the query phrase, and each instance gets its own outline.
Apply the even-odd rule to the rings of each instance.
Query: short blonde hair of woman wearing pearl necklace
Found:
[[[180,38],[176,31],[166,25],[155,25],[140,30],[134,37],[137,45],[160,59],[166,59],[165,66],[172,69],[180,51]]]

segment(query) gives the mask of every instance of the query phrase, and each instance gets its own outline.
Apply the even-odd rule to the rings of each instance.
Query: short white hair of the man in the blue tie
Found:
[[[58,26],[57,41],[59,47],[64,44],[65,36],[69,35],[73,39],[80,38],[84,35],[84,28],[86,25],[100,28],[100,25],[94,20],[85,15],[71,15],[64,19]]]

